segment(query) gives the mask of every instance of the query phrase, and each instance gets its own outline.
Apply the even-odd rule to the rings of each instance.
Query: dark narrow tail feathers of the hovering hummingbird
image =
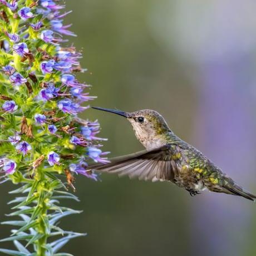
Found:
[[[244,190],[241,186],[237,185],[232,179],[224,177],[223,188],[227,189],[228,192],[223,191],[227,194],[243,196],[243,198],[255,201],[256,196]]]

